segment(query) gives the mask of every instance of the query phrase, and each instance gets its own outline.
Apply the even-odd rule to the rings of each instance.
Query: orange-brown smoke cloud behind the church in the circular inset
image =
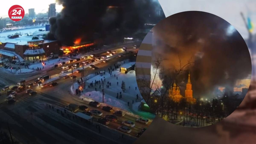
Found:
[[[174,14],[153,28],[155,56],[168,58],[165,69],[179,69],[188,60],[193,95],[200,97],[218,86],[235,86],[236,80],[252,72],[249,50],[242,36],[227,21],[206,12]],[[192,58],[192,59],[191,59]],[[188,71],[176,81],[188,80]],[[185,88],[185,87],[184,87]],[[181,93],[184,94],[184,88]]]

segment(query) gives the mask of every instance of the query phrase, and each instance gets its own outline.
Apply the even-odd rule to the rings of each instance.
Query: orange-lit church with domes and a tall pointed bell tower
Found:
[[[179,84],[176,84],[175,81],[173,86],[171,86],[171,88],[169,89],[169,97],[174,102],[180,102],[180,100],[183,98],[183,96],[180,94]],[[193,98],[193,90],[192,90],[192,84],[190,81],[190,73],[188,73],[188,83],[186,84],[185,99],[187,102],[190,102],[190,103],[196,102],[196,99]]]

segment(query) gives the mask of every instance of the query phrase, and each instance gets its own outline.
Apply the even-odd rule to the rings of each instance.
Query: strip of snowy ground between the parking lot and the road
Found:
[[[58,59],[54,59],[54,60],[49,60],[49,61],[45,61],[44,63],[44,66],[42,63],[37,63],[37,64],[32,64],[29,66],[30,69],[35,69],[36,68],[52,68],[54,65],[57,65],[61,62],[68,62],[68,60],[70,60],[70,58],[66,58],[66,57],[63,57],[63,58],[58,58]]]

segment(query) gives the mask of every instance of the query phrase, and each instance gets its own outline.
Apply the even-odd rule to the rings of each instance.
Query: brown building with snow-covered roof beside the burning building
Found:
[[[2,57],[19,60],[41,60],[51,53],[59,54],[61,44],[56,40],[32,39],[33,36],[12,36],[0,38]]]

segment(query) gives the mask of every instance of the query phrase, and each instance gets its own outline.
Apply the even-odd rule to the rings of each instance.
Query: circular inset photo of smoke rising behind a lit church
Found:
[[[207,12],[180,12],[160,21],[145,36],[136,59],[144,107],[186,127],[229,116],[243,101],[251,75],[242,36]]]

